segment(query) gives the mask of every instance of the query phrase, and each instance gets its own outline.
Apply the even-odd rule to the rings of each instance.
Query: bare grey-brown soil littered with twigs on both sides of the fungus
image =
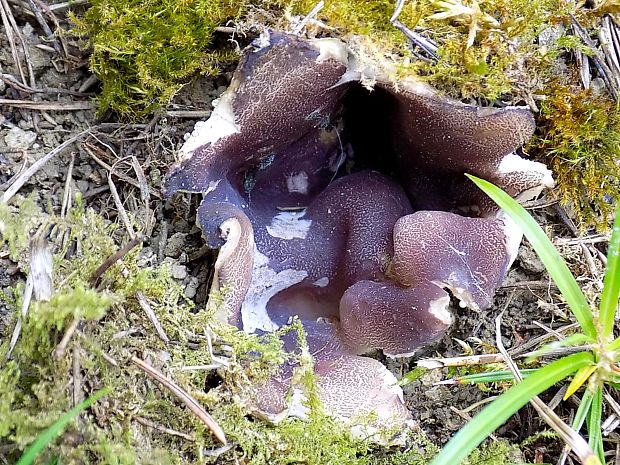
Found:
[[[122,222],[117,217],[118,209],[108,183],[114,167],[118,196],[146,231],[141,252],[145,263],[169,263],[185,296],[194,301],[198,309],[204,307],[215,255],[204,247],[195,224],[199,199],[184,195],[165,201],[160,188],[163,176],[175,161],[176,150],[193,124],[208,117],[211,102],[226,88],[230,73],[196,80],[183,89],[169,108],[144,124],[125,124],[105,115],[97,117],[91,99],[97,93],[98,84],[91,79],[87,56],[80,51],[79,44],[67,39],[73,60],[61,59],[42,41],[44,33],[34,18],[17,15],[15,19],[29,52],[29,57],[24,57],[18,50],[18,58],[31,65],[34,73],[31,87],[41,92],[34,93],[12,82],[18,79],[19,70],[6,31],[0,28],[0,72],[3,76],[0,98],[33,100],[38,104],[35,109],[25,104],[0,104],[0,191],[6,189],[9,180],[45,154],[90,128],[87,137],[46,162],[19,190],[19,195],[32,195],[41,207],[60,212],[67,207],[67,191],[70,198],[79,192],[87,207],[109,221]],[[139,164],[144,174],[148,185],[146,193],[144,189],[141,191],[144,186],[131,160]],[[561,247],[563,256],[584,286],[595,288],[602,275],[600,256],[605,249],[599,249],[600,244],[584,245],[573,240],[575,231],[567,225],[569,220],[563,220],[563,210],[553,203],[551,196],[530,206],[530,211]],[[116,239],[120,243],[122,237]],[[0,290],[10,293],[12,286],[24,281],[25,275],[18,263],[0,250]],[[12,309],[7,302],[0,299],[0,337],[10,335],[14,322],[10,312]],[[500,314],[502,341],[515,355],[535,349],[544,340],[553,340],[555,331],[563,331],[569,324],[564,304],[527,244],[521,246],[492,308],[472,312],[457,306],[456,312],[455,324],[440,343],[420,350],[409,359],[393,361],[381,355],[377,357],[401,378],[415,368],[420,358],[495,352],[495,319]],[[477,386],[436,384],[457,373],[455,369],[429,370],[405,387],[407,405],[419,428],[437,444],[444,443],[473,415],[475,409],[470,411],[470,406],[489,397],[488,392]],[[551,390],[544,396],[545,401],[553,402],[555,394]],[[567,402],[559,411],[569,416],[574,408]],[[545,430],[545,424],[536,413],[524,408],[496,434],[516,444],[530,438],[522,448],[524,460],[550,462],[557,459],[561,445],[559,440],[542,434]]]

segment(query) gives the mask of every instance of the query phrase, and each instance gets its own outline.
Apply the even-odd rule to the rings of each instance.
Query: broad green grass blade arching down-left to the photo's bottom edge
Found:
[[[469,421],[433,459],[431,465],[457,465],[489,434],[504,424],[537,394],[566,378],[579,368],[594,363],[589,352],[568,355],[540,368],[511,387]]]

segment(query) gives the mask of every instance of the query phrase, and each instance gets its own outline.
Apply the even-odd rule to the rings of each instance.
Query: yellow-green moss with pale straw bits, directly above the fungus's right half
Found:
[[[561,0],[421,0],[412,8],[408,26],[439,47],[436,62],[414,68],[454,97],[488,101],[523,98],[549,78],[559,47],[537,39],[569,13]]]

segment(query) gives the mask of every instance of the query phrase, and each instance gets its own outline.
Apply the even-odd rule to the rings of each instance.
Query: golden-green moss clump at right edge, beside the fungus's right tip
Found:
[[[553,170],[560,200],[581,226],[604,227],[620,200],[620,106],[562,85],[545,95],[532,151]]]

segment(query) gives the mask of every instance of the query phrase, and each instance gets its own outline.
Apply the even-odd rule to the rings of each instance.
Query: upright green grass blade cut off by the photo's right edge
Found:
[[[620,295],[620,206],[616,210],[616,219],[609,240],[607,270],[599,309],[601,336],[604,340],[612,335],[614,317],[618,308],[618,295]]]

